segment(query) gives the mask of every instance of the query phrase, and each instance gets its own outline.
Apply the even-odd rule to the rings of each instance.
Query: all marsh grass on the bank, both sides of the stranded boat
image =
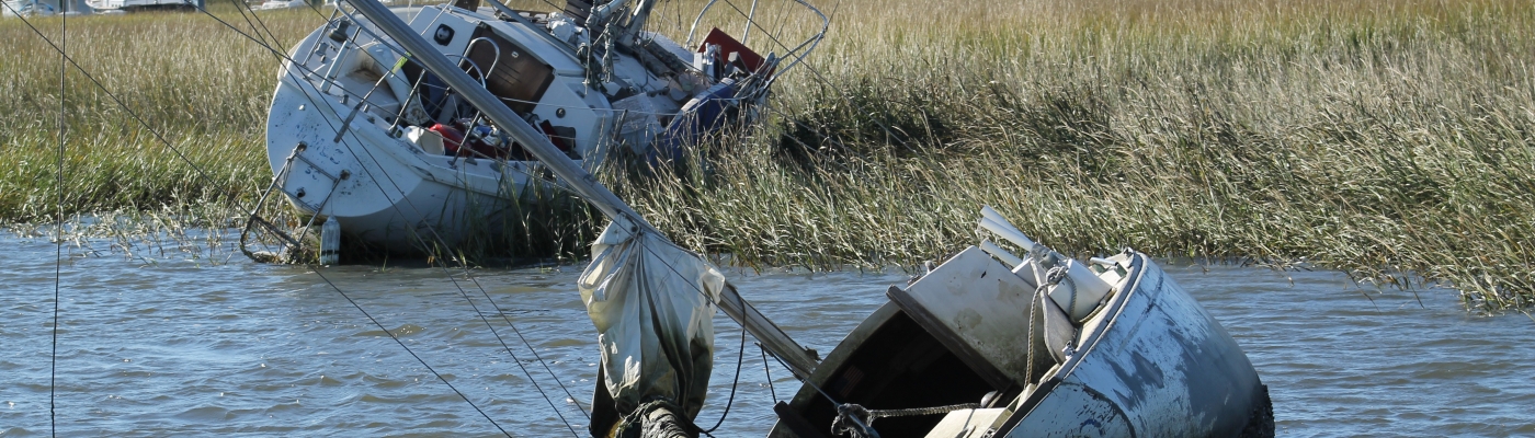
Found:
[[[666,18],[652,23],[682,41],[691,17],[677,11],[701,3],[668,2]],[[941,259],[976,240],[984,204],[1071,253],[1131,247],[1319,266],[1360,282],[1449,285],[1480,309],[1530,305],[1527,3],[823,6],[832,34],[778,83],[768,126],[706,142],[703,165],[609,165],[600,178],[677,242],[748,265]],[[717,8],[705,29],[738,32],[728,12]],[[815,29],[789,11],[760,14],[784,43]],[[172,132],[215,182],[187,178],[186,164],[118,123],[100,96],[71,95],[78,158],[69,158],[68,211],[232,205],[270,178],[259,127],[276,63],[206,18],[180,25],[203,29],[192,32],[157,17],[80,20],[81,29],[98,26],[83,35],[111,35],[101,38],[117,46],[77,58],[92,72],[121,72],[111,87]],[[319,23],[313,14],[270,17],[287,41]],[[35,41],[20,32],[0,21],[8,41]],[[134,43],[154,38],[163,40]],[[754,46],[784,51],[766,38]],[[0,112],[21,115],[0,121],[0,161],[23,162],[0,170],[0,217],[49,217],[57,57],[46,47],[0,52],[0,81],[18,90],[0,96]],[[563,225],[516,219],[505,236],[520,244],[485,240],[470,253],[580,254],[600,224],[589,208],[551,210],[563,213],[539,219]]]

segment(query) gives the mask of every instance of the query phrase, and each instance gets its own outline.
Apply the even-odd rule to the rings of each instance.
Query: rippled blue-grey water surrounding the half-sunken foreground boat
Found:
[[[0,233],[0,436],[46,436],[55,247]],[[574,288],[582,266],[474,270],[471,280],[439,268],[316,274],[230,257],[229,248],[64,250],[52,386],[63,436],[499,435],[485,417],[517,436],[569,436],[565,421],[586,435],[597,349]],[[1257,366],[1282,436],[1535,435],[1535,322],[1523,314],[1471,315],[1444,289],[1365,294],[1335,273],[1167,270]],[[906,276],[771,271],[732,280],[824,354]],[[715,331],[705,427],[731,394],[741,340],[723,315]],[[772,426],[772,394],[786,398],[798,384],[769,369],[771,386],[748,342],[735,404],[715,436],[763,436]]]

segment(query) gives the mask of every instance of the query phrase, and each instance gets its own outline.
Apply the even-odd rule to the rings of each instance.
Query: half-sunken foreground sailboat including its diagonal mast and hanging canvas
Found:
[[[892,286],[823,361],[416,29],[350,3],[611,219],[579,282],[602,345],[593,435],[697,433],[715,308],[804,384],[771,436],[1273,435],[1251,361],[1150,257],[1065,257],[990,208],[978,225],[1024,257],[982,240]]]

